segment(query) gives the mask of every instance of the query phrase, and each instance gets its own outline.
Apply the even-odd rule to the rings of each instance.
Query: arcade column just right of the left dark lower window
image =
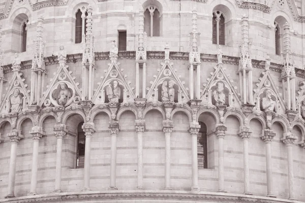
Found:
[[[84,123],[81,128],[85,132],[85,162],[84,162],[84,187],[81,191],[90,191],[90,151],[91,151],[91,137],[95,132],[94,123]]]

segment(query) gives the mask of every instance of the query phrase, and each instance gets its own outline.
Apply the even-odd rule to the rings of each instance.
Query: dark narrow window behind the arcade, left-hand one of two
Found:
[[[76,168],[83,168],[85,163],[85,133],[83,132],[81,126],[84,123],[81,122],[77,127],[77,155],[76,155]]]

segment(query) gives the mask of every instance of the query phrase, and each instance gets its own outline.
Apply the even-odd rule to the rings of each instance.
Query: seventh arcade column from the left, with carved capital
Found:
[[[166,190],[171,190],[170,187],[170,136],[173,131],[174,123],[171,120],[163,121],[163,132],[165,136],[165,187]]]

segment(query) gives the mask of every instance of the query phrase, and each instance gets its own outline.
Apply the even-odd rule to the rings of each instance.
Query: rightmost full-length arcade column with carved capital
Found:
[[[294,141],[296,140],[296,136],[293,136],[291,132],[284,133],[284,138],[281,140],[287,146],[287,161],[288,161],[288,184],[289,184],[289,199],[296,200],[294,196],[294,184],[293,184],[293,152],[292,147]]]

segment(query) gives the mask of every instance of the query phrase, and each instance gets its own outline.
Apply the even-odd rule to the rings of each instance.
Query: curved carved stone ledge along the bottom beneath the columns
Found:
[[[218,194],[216,192],[188,192],[188,191],[156,191],[156,190],[125,190],[125,191],[90,191],[90,192],[63,192],[53,194],[41,194],[35,196],[23,196],[10,199],[0,199],[0,202],[10,203],[25,203],[25,202],[49,202],[49,201],[81,201],[85,199],[98,199],[103,202],[105,199],[114,198],[179,198],[185,200],[212,200],[220,201],[226,200],[227,202],[261,202],[261,203],[293,203],[295,201],[280,198],[270,198],[262,196],[246,196],[243,194]]]

